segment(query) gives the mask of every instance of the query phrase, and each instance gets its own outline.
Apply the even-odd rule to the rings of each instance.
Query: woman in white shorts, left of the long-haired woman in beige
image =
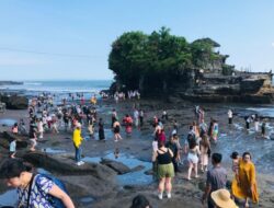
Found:
[[[192,170],[194,169],[195,177],[198,177],[198,155],[201,154],[198,145],[195,139],[189,140],[189,151],[187,151],[189,171],[187,180],[191,181]]]

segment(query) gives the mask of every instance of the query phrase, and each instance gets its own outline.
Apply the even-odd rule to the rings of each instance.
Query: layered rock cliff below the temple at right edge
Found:
[[[222,76],[207,72],[199,76],[193,88],[178,90],[175,96],[208,103],[273,103],[272,73],[235,71],[233,76]]]

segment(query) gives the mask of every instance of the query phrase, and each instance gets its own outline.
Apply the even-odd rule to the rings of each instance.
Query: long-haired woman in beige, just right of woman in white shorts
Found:
[[[208,153],[210,152],[210,142],[207,135],[202,136],[202,140],[199,142],[199,149],[201,149],[201,171],[204,173],[207,171]]]

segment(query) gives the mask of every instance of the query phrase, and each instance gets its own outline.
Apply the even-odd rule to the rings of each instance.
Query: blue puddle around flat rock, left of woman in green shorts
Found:
[[[129,172],[123,175],[117,175],[116,180],[117,183],[122,186],[125,185],[147,185],[147,184],[151,184],[153,182],[153,178],[151,175],[147,175],[145,174],[146,171],[149,171],[152,167],[152,164],[150,162],[145,162],[141,160],[136,159],[133,155],[126,155],[121,153],[119,157],[117,159],[115,159],[115,155],[113,152],[107,153],[105,157],[103,157],[103,159],[110,159],[116,162],[121,162],[125,165],[127,165],[129,169],[135,169],[135,167],[140,167],[141,169],[137,169],[136,172]],[[101,162],[101,158],[95,157],[95,158],[89,158],[85,157],[83,158],[84,162],[95,162],[99,163]]]

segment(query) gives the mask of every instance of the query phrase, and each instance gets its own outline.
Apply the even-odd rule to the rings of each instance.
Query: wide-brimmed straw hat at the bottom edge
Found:
[[[220,208],[238,208],[235,201],[230,198],[230,193],[227,189],[213,192],[212,198]]]

